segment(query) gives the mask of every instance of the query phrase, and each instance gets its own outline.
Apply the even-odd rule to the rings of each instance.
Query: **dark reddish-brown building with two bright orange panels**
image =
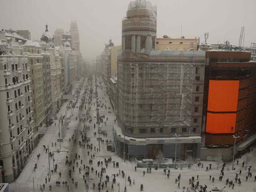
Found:
[[[206,53],[203,132],[209,151],[233,151],[233,135],[239,136],[236,152],[244,151],[256,140],[256,62],[250,59],[250,52],[245,51]],[[211,155],[230,161],[233,152]]]

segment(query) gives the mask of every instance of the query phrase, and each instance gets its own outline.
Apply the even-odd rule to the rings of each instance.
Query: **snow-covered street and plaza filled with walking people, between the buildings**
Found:
[[[189,185],[189,180],[192,177],[195,178],[194,183],[198,182],[198,188],[196,191],[200,191],[200,185],[207,185],[206,191],[214,191],[213,189],[215,187],[227,192],[256,191],[255,167],[250,169],[252,177],[248,177],[248,179],[246,179],[246,176],[248,175],[248,168],[256,161],[255,150],[249,153],[249,158],[247,156],[249,159],[247,170],[245,170],[245,165],[242,167],[242,162],[245,161],[246,154],[241,159],[237,159],[239,161],[238,164],[237,160],[235,161],[236,170],[231,170],[232,163],[226,164],[223,169],[224,175],[222,182],[219,180],[223,162],[219,165],[216,162],[200,162],[200,166],[194,164],[190,169],[172,169],[170,170],[168,178],[168,170],[166,170],[166,174],[164,174],[163,169],[151,169],[151,173],[149,173],[147,168],[137,168],[137,171],[135,171],[135,162],[124,162],[123,159],[116,156],[113,152],[107,151],[106,140],[113,141],[113,125],[116,123],[116,117],[106,94],[105,85],[99,77],[97,77],[97,92],[100,106],[99,115],[100,117],[105,115],[105,117],[102,118],[103,123],[100,123],[100,126],[103,127],[103,130],[106,130],[106,135],[100,135],[103,141],[101,141],[100,151],[98,151],[99,146],[96,139],[98,137],[98,125],[96,124],[97,98],[95,96],[95,77],[91,80],[85,80],[85,84],[83,84],[82,81],[80,81],[80,83],[80,86],[78,83],[73,90],[74,95],[75,91],[79,91],[79,99],[77,100],[77,104],[73,109],[73,112],[67,107],[70,106],[69,102],[62,104],[58,113],[58,120],[54,120],[52,125],[48,127],[45,136],[41,138],[38,146],[36,146],[32,154],[30,154],[30,159],[19,178],[17,178],[14,183],[11,183],[11,191],[33,191],[33,181],[34,191],[36,192],[40,191],[40,186],[43,188],[43,185],[45,185],[45,190],[42,189],[42,191],[50,191],[49,185],[51,185],[51,191],[111,191],[113,178],[116,178],[116,182],[113,183],[113,191],[124,191],[125,186],[127,192],[140,191],[141,184],[143,185],[143,191],[146,192],[194,191],[191,189],[191,185]],[[92,88],[91,92],[90,88]],[[83,93],[85,93],[85,91],[85,103],[82,105]],[[59,119],[64,115],[66,115],[66,117],[70,117],[70,123],[68,125],[69,129],[61,129],[61,131],[63,131],[61,135],[64,135],[63,142],[61,143],[61,152],[54,152],[54,157],[49,158],[50,169],[54,170],[55,164],[58,165],[56,172],[53,172],[51,180],[49,181],[47,175],[48,152],[43,148],[43,145],[45,145],[46,148],[49,146],[49,152],[58,151],[59,143],[57,139],[59,138]],[[83,121],[85,123],[83,123]],[[90,127],[90,129],[87,129],[84,126]],[[90,138],[88,143],[82,142],[82,138],[85,134],[87,138]],[[83,144],[85,144],[85,147],[83,147]],[[39,159],[37,157],[38,154],[40,154]],[[77,158],[75,158],[76,154]],[[110,157],[111,161],[109,159]],[[53,158],[55,159],[54,162]],[[108,161],[108,163],[105,164],[105,160]],[[100,165],[97,164],[98,162],[100,162]],[[116,162],[119,162],[119,168],[114,166]],[[34,170],[35,164],[37,164],[37,169]],[[206,171],[207,167],[210,169],[210,164],[211,170]],[[241,174],[239,174],[240,170]],[[124,178],[122,177],[122,171],[124,172]],[[145,175],[143,172],[145,172]],[[88,174],[88,177],[85,176],[83,178],[85,173]],[[239,186],[238,182],[235,182],[236,173],[237,180],[238,178],[241,179],[241,186]],[[181,175],[180,180],[177,179],[179,174]],[[105,182],[108,178],[106,175],[109,176],[109,182]],[[130,177],[131,182],[128,181],[128,177]],[[213,180],[213,178],[215,179]],[[228,185],[226,185],[227,179],[229,179],[229,182],[231,180],[233,181],[234,188],[233,183],[229,185],[228,182]],[[57,186],[56,182],[60,182],[60,186]],[[77,187],[75,187],[76,182]],[[98,190],[99,182],[100,190]],[[95,188],[93,187],[93,183],[95,184]],[[88,188],[86,188],[87,184]]]

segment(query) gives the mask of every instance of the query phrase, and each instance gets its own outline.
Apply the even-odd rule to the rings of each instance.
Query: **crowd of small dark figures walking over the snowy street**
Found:
[[[94,81],[95,80],[95,81]],[[68,170],[67,174],[61,173],[61,169],[58,169],[58,164],[54,165],[54,169],[51,170],[52,174],[56,174],[54,177],[56,180],[49,180],[47,175],[45,178],[45,183],[40,185],[40,190],[43,191],[47,187],[51,191],[52,188],[64,187],[66,191],[69,191],[70,188],[82,188],[85,191],[116,191],[120,187],[118,180],[126,180],[127,186],[138,186],[138,191],[144,191],[143,183],[136,183],[135,178],[132,178],[132,175],[128,175],[124,170],[119,167],[119,162],[113,161],[111,156],[101,157],[100,144],[108,143],[108,134],[106,132],[100,132],[100,127],[106,126],[108,124],[108,114],[101,113],[99,111],[104,110],[109,111],[110,106],[106,102],[106,93],[104,96],[98,96],[97,87],[103,90],[100,83],[96,82],[96,77],[91,76],[88,78],[87,82],[83,82],[83,85],[77,86],[75,90],[75,102],[70,102],[67,105],[67,111],[77,109],[78,113],[75,116],[70,115],[66,117],[62,114],[61,120],[59,123],[63,124],[63,120],[73,119],[77,122],[77,131],[75,131],[70,138],[68,138],[70,143],[69,154],[65,159],[65,167]],[[100,110],[96,110],[100,109]],[[75,113],[74,113],[75,114]],[[116,120],[114,120],[116,123]],[[98,125],[98,126],[97,126]],[[101,125],[101,126],[100,126]],[[56,125],[55,125],[56,127]],[[98,140],[98,141],[96,141]],[[99,143],[98,143],[99,142]],[[56,147],[56,143],[52,143],[52,146]],[[47,148],[44,146],[46,152]],[[38,159],[40,154],[38,154]],[[54,158],[51,154],[50,158]],[[237,161],[237,165],[239,162]],[[116,169],[116,172],[108,173],[108,168],[112,167]],[[223,182],[223,188],[235,189],[236,186],[242,185],[242,177],[244,177],[245,182],[252,178],[252,167],[248,167],[248,172],[245,175],[244,171],[238,170],[235,173],[234,177],[225,177],[227,172],[226,164],[224,163],[220,170],[220,175],[211,175],[212,165],[204,165],[202,163],[197,164],[198,169],[205,170],[209,175],[209,180],[211,183]],[[244,162],[242,162],[242,167],[244,167]],[[137,172],[137,166],[135,166],[135,172]],[[151,168],[141,169],[143,177],[147,177],[146,173],[152,173]],[[169,180],[172,179],[175,181],[177,190],[192,192],[206,192],[210,191],[208,189],[207,183],[200,181],[199,175],[194,175],[189,178],[186,182],[182,180],[182,174],[179,173],[177,177],[172,177],[171,170],[163,169],[164,176]],[[82,181],[82,182],[81,182]],[[254,181],[256,182],[256,175],[254,176]],[[61,185],[62,184],[62,185]],[[124,192],[127,191],[127,186],[124,187]]]

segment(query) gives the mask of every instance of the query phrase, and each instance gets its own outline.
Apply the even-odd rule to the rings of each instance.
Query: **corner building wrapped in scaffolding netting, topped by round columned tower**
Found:
[[[177,143],[177,159],[199,157],[205,52],[154,51],[155,40],[156,7],[130,2],[117,59],[117,153],[174,157]]]

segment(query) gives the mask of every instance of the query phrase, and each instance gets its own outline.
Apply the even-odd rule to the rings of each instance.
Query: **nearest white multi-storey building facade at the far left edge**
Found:
[[[14,39],[0,40],[0,165],[2,182],[16,178],[32,152],[33,107],[30,65]]]

